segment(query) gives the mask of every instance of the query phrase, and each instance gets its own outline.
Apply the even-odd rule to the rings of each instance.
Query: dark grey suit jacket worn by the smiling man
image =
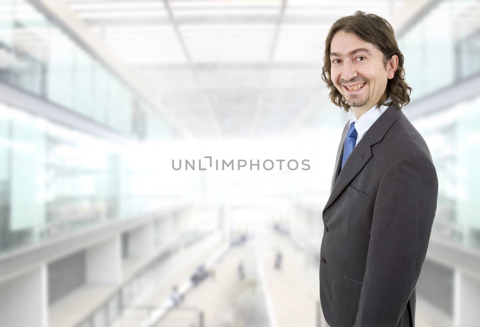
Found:
[[[391,105],[340,172],[347,130],[348,123],[323,210],[319,275],[325,320],[331,327],[414,327],[415,284],[437,207],[430,151]]]

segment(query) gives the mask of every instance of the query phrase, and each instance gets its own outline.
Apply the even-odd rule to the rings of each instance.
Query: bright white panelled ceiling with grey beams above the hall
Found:
[[[405,0],[65,0],[196,137],[318,127],[330,25]]]

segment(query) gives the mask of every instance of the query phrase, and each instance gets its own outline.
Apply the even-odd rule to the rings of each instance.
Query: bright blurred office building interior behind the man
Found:
[[[478,0],[0,0],[0,325],[326,327],[321,69],[356,10],[395,28],[438,174],[416,326],[480,326]]]

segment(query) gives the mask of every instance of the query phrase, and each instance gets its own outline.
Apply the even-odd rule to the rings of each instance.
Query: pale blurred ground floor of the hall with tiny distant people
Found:
[[[201,261],[208,257],[209,250],[213,253],[213,247],[204,246],[202,255],[192,250],[182,260],[188,262],[190,257]],[[282,254],[280,269],[275,268],[278,252]],[[170,268],[177,270],[175,265]],[[187,269],[170,277],[180,282],[188,280],[190,272]],[[214,266],[214,276],[193,287],[184,301],[169,310],[155,327],[328,327],[317,311],[318,290],[318,263],[288,236],[266,231],[231,247]],[[163,303],[168,293],[165,287],[152,292],[144,304]],[[452,326],[448,317],[441,316],[421,297],[416,313],[416,327]]]

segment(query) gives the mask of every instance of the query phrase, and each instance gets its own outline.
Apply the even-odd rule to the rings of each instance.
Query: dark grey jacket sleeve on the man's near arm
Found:
[[[397,327],[420,276],[437,207],[431,159],[409,152],[386,170],[375,199],[354,327]]]

